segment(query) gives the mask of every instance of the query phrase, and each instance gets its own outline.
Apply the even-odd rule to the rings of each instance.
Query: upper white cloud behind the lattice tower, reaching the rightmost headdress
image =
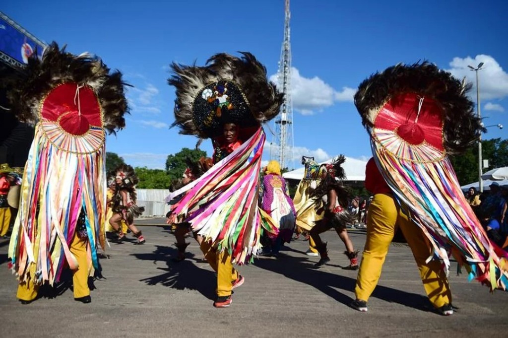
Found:
[[[281,87],[277,74],[270,76],[270,80]],[[335,90],[321,78],[314,76],[306,78],[300,75],[295,67],[291,68],[291,96],[293,108],[303,115],[311,115],[315,111],[333,105],[336,101],[353,102],[356,89],[342,87],[341,91]]]

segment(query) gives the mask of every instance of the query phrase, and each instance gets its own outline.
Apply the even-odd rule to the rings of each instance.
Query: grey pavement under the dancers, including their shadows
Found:
[[[8,240],[0,239],[1,337],[478,337],[508,331],[508,294],[489,293],[465,273],[451,269],[455,314],[437,315],[424,296],[409,248],[392,245],[369,310],[348,307],[354,298],[357,271],[348,264],[336,233],[324,234],[331,262],[304,253],[294,240],[279,258],[261,257],[240,266],[243,286],[235,289],[227,309],[212,306],[215,275],[197,243],[188,238],[187,259],[173,263],[174,237],[163,219],[140,219],[146,244],[135,239],[111,243],[101,259],[102,278],[94,280],[92,302],[74,301],[70,282],[46,290],[23,305],[15,297],[17,282],[7,269]],[[362,249],[365,232],[350,231]],[[79,332],[79,333],[78,333]]]

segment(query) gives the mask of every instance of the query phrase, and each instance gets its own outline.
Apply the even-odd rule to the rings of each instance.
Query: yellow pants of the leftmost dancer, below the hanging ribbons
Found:
[[[88,289],[88,259],[86,256],[86,240],[74,236],[71,243],[71,253],[78,260],[79,267],[74,271],[72,282],[74,285],[74,298],[81,298],[90,294]],[[21,300],[34,300],[37,297],[39,285],[34,284],[33,280],[23,282],[18,286],[16,296]]]

